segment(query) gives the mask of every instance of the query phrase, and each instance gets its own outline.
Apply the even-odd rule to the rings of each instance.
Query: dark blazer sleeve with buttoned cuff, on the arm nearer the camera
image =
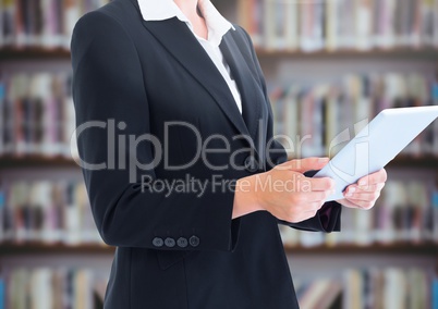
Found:
[[[165,196],[158,189],[144,189],[139,176],[129,181],[134,168],[136,175],[151,177],[149,185],[159,187],[162,183],[157,182],[154,169],[141,170],[129,164],[132,158],[144,164],[153,162],[151,143],[142,141],[133,149],[126,145],[123,150],[113,145],[119,139],[108,138],[110,122],[115,127],[112,131],[123,133],[126,140],[151,135],[147,81],[143,78],[139,57],[123,25],[100,11],[85,14],[74,27],[71,54],[80,157],[89,164],[105,164],[104,169],[82,165],[92,212],[102,239],[119,247],[233,250],[240,223],[239,219],[231,219],[233,189],[207,189],[199,197],[199,193],[187,188],[166,191]],[[80,127],[86,129],[78,131]],[[126,168],[114,169],[111,161],[117,166],[122,162]],[[171,246],[170,240],[170,246],[163,246],[161,240],[156,242],[157,237],[161,240],[184,237],[188,245],[182,248],[173,243]]]

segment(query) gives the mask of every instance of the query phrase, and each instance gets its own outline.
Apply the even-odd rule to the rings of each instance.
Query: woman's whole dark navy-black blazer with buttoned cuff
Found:
[[[278,143],[271,145],[275,153],[267,151],[272,116],[264,76],[248,35],[235,28],[220,49],[242,95],[242,115],[215,64],[175,17],[146,22],[137,0],[114,0],[75,25],[77,126],[95,121],[78,134],[78,150],[87,163],[106,163],[83,174],[100,235],[117,246],[107,309],[299,308],[279,221],[266,211],[231,220],[233,187],[219,186],[287,160]],[[167,169],[163,160],[153,168],[133,164],[159,158],[160,147],[147,134],[161,143],[168,135],[169,164],[195,158],[198,137],[192,128],[166,129],[165,123],[175,121],[196,127],[203,141],[214,134],[228,137],[229,151],[206,156],[223,169],[212,171],[200,158],[183,170]],[[130,150],[130,140],[134,145],[141,136],[146,140]],[[224,140],[211,139],[208,148],[224,149]],[[207,184],[203,195],[188,182],[165,189],[165,181],[187,175]],[[304,222],[280,223],[339,231],[340,210],[330,203]]]

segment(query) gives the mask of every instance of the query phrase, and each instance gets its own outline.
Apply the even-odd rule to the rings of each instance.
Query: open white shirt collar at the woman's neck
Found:
[[[193,30],[192,23],[187,20],[173,0],[137,0],[142,16],[145,21],[165,21],[172,17],[184,22]],[[210,0],[198,0],[199,10],[208,28],[208,41],[219,46],[222,37],[234,26],[227,21]]]

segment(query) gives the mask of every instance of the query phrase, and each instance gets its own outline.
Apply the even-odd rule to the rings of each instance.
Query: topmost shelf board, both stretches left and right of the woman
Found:
[[[256,48],[257,55],[261,59],[275,58],[418,58],[422,60],[438,61],[438,49],[435,48],[396,48],[396,49],[373,49],[373,50],[319,50],[305,52],[301,50],[277,50]],[[11,60],[70,60],[70,50],[64,48],[0,48],[0,61]]]

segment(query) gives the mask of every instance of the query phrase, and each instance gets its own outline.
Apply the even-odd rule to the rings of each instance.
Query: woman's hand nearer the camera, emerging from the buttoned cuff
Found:
[[[320,170],[328,161],[328,158],[291,160],[239,180],[233,219],[258,210],[291,223],[315,217],[334,189],[334,182],[328,177],[309,178],[303,173]]]

